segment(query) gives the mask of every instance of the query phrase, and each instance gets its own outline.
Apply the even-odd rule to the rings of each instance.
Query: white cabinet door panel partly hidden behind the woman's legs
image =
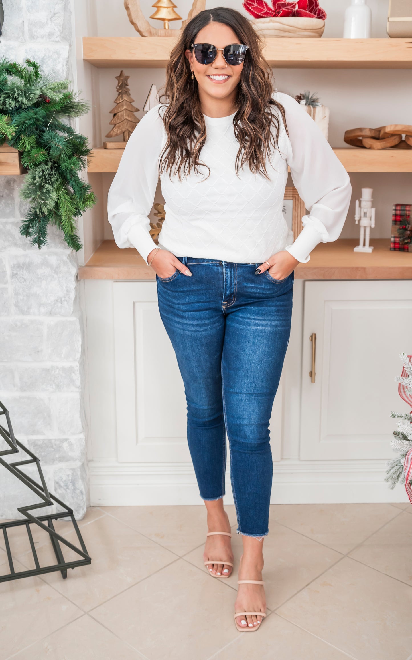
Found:
[[[117,458],[120,462],[190,462],[186,399],[175,352],[163,327],[154,282],[114,282]],[[280,460],[283,387],[270,422]]]

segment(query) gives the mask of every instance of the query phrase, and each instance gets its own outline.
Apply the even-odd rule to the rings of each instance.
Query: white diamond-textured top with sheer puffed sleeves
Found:
[[[309,114],[287,94],[277,93],[274,98],[285,108],[289,137],[279,116],[279,150],[266,164],[270,180],[252,174],[248,167],[237,176],[234,114],[217,119],[205,116],[207,137],[200,158],[210,175],[206,167],[200,167],[200,174],[191,172],[181,182],[166,172],[160,176],[165,200],[161,248],[177,257],[237,263],[266,261],[287,249],[306,263],[318,243],[338,238],[351,199],[349,176]],[[119,248],[134,246],[146,262],[156,248],[148,214],[166,139],[161,107],[152,108],[134,129],[111,184],[107,207]],[[304,228],[295,242],[282,213],[288,165],[310,211],[303,216]]]

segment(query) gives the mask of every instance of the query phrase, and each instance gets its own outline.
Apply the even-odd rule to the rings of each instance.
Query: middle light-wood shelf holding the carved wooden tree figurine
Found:
[[[347,172],[412,172],[412,149],[334,149]],[[123,149],[93,149],[88,172],[117,172]]]

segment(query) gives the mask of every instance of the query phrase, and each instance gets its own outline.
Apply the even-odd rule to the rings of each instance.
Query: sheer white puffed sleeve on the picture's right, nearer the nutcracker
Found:
[[[287,164],[309,215],[303,230],[287,251],[303,263],[318,243],[338,238],[351,201],[351,182],[322,131],[305,110],[287,94],[277,94],[285,108],[289,145]]]

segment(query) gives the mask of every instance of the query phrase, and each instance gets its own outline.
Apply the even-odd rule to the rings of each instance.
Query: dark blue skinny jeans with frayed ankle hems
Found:
[[[157,277],[159,310],[187,399],[187,439],[203,500],[225,494],[226,435],[237,532],[268,534],[269,420],[289,341],[293,273],[179,257],[192,277]]]

